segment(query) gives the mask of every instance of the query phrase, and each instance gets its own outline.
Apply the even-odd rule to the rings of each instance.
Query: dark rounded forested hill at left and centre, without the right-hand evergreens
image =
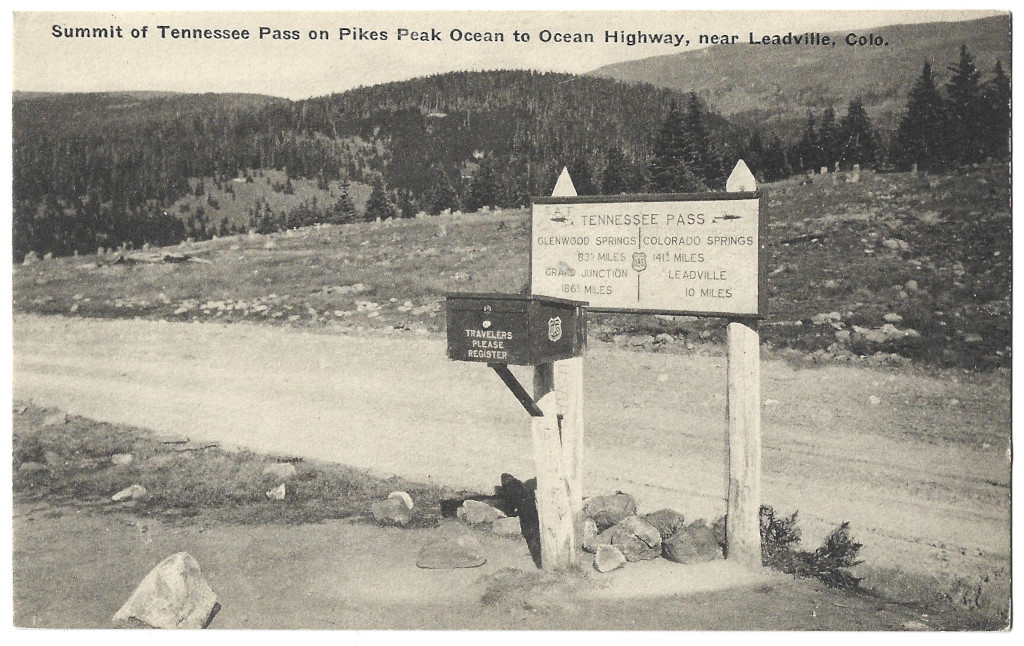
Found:
[[[347,207],[330,213],[338,199],[331,182],[376,180],[395,213],[409,216],[523,205],[550,190],[564,165],[587,191],[609,149],[642,181],[670,106],[685,98],[525,71],[453,73],[303,101],[16,94],[15,257],[203,238],[218,228],[216,213],[189,224],[172,208],[197,189],[189,180],[212,178],[228,190],[230,180],[259,170],[285,171],[276,187],[285,192],[292,178],[317,182],[324,213],[307,219],[323,221],[358,217]],[[729,125],[714,115],[705,121],[723,159],[735,158],[739,139]],[[249,211],[268,208],[258,201]]]

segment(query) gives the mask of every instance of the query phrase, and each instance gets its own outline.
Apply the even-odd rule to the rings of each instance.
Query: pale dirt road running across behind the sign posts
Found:
[[[532,474],[525,412],[443,339],[34,315],[13,336],[14,397],[73,414],[458,487]],[[849,520],[869,588],[1006,603],[1009,375],[762,365],[764,500],[805,546]],[[724,513],[725,359],[595,343],[585,370],[585,492]]]

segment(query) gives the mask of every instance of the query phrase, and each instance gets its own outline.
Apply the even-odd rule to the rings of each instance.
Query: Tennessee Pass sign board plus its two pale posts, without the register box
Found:
[[[729,319],[727,415],[727,558],[761,567],[761,386],[758,320],[766,305],[765,221],[754,176],[742,161],[726,182],[726,192],[575,197],[562,171],[551,198],[534,201],[530,241],[530,293],[589,302],[590,311],[718,316]],[[553,562],[567,563],[566,550],[579,545],[577,500],[558,498],[579,487],[583,439],[582,358],[555,374],[555,389],[567,389],[561,443],[556,445],[545,418],[535,418],[538,458],[538,508],[542,540],[554,543]],[[557,369],[567,361],[556,362]],[[552,391],[550,367],[537,368],[535,396]],[[567,419],[573,420],[566,427]],[[547,422],[547,423],[550,423]],[[558,460],[562,471],[548,473]],[[551,490],[542,490],[543,481]],[[564,486],[563,486],[564,484]],[[550,502],[547,502],[548,499]],[[582,501],[581,501],[582,502]],[[574,543],[573,543],[574,541]],[[542,548],[543,549],[543,548]],[[548,561],[545,560],[547,567]]]

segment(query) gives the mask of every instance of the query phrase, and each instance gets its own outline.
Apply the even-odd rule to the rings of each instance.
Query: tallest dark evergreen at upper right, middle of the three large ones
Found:
[[[949,66],[952,76],[946,82],[946,114],[952,159],[962,164],[973,164],[982,157],[982,120],[984,111],[981,99],[981,75],[961,45],[959,58]]]

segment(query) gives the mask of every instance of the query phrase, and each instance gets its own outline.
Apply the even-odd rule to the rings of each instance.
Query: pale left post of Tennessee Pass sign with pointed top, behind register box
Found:
[[[575,195],[562,169],[552,196]],[[541,566],[564,569],[580,564],[583,546],[583,358],[537,365],[534,401],[544,414],[532,418]]]

